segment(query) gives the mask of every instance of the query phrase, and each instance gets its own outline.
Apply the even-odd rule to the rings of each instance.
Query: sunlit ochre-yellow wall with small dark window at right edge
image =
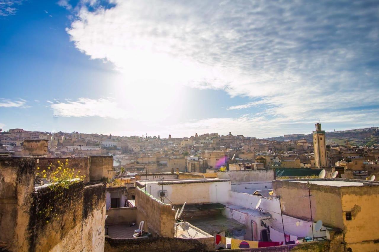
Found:
[[[342,219],[346,248],[352,251],[379,250],[379,221],[375,210],[379,209],[379,185],[363,187],[341,187]],[[351,220],[346,220],[351,212]],[[357,235],[359,234],[359,235]]]

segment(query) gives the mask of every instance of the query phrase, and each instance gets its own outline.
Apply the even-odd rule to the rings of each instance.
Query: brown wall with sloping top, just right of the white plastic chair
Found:
[[[144,221],[144,230],[153,237],[174,237],[175,210],[171,205],[164,204],[153,196],[136,188],[137,223]]]

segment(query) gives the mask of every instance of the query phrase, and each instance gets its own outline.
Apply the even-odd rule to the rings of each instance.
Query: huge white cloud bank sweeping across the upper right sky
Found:
[[[379,78],[372,66],[378,5],[112,2],[113,8],[95,11],[81,5],[67,33],[78,50],[113,62],[124,82],[139,81],[144,92],[155,87],[153,81],[141,82],[146,76],[164,83],[155,93],[161,97],[179,86],[222,89],[254,99],[228,109],[254,114],[255,108],[265,108],[262,125],[309,118],[352,122],[359,107],[379,106],[373,95]],[[370,113],[378,118],[377,109]],[[247,128],[256,123],[243,122]]]

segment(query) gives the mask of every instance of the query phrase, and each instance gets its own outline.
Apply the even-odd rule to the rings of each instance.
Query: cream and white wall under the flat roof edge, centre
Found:
[[[182,183],[163,182],[163,190],[167,191],[163,202],[179,205],[197,203],[227,203],[229,201],[230,181]],[[155,198],[161,199],[158,192],[162,190],[162,183],[147,184],[147,191]]]

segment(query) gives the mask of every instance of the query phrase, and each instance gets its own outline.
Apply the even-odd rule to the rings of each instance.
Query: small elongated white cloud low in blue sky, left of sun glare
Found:
[[[49,102],[49,101],[48,101]],[[100,98],[88,99],[79,98],[77,101],[50,102],[53,115],[56,117],[103,117],[103,118],[123,118],[125,110],[120,109],[113,100]]]

